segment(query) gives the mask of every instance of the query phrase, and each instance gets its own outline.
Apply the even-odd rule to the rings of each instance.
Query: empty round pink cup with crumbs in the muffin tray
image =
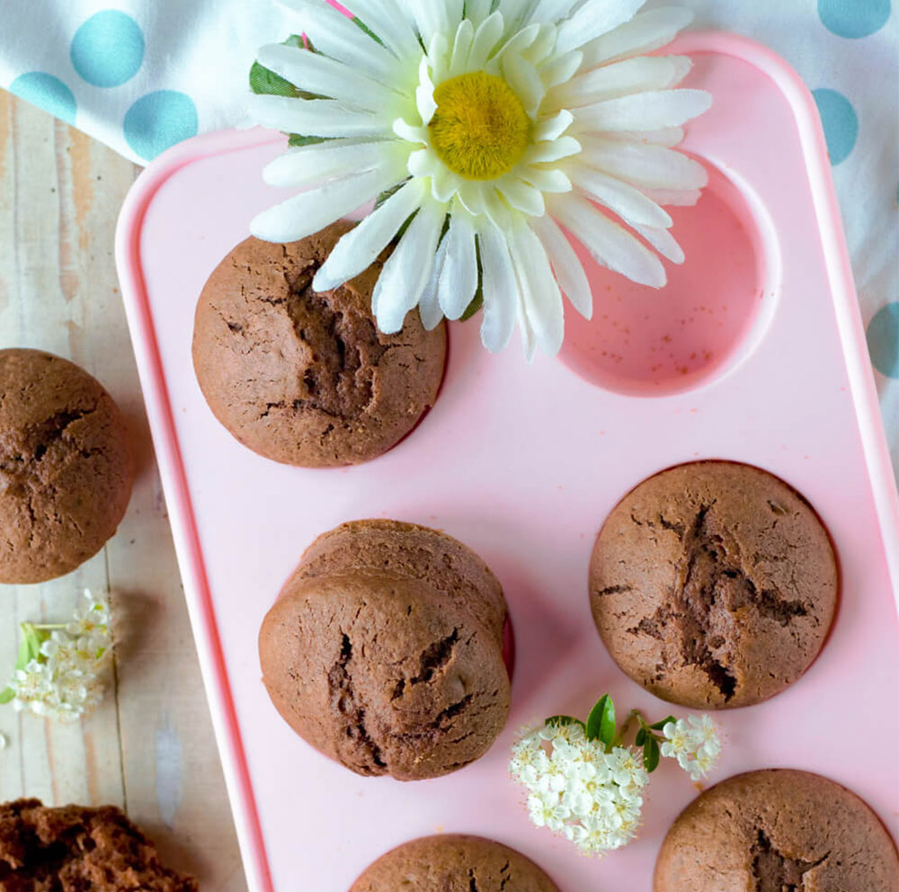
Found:
[[[649,288],[600,266],[572,238],[593,292],[593,315],[565,314],[560,359],[578,376],[628,397],[669,397],[713,384],[761,343],[777,309],[780,253],[749,183],[707,159],[694,207],[668,207],[686,254],[663,260],[668,284]]]

